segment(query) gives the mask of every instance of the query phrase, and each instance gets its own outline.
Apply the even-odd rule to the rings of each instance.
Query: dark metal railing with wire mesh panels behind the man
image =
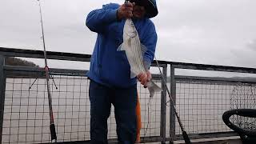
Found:
[[[50,119],[46,83],[42,68],[7,66],[6,57],[43,58],[40,50],[0,48],[0,134],[2,143],[50,142]],[[48,59],[90,62],[90,55],[47,51]],[[232,107],[232,94],[255,98],[256,81],[240,78],[194,77],[175,74],[177,69],[211,70],[256,74],[256,69],[234,66],[201,65],[159,61],[164,78],[176,103],[183,125],[191,139],[234,136],[222,114]],[[154,63],[153,66],[156,66]],[[88,142],[90,140],[89,79],[86,70],[50,69],[54,121],[58,142]],[[29,90],[34,78],[38,81]],[[159,74],[154,82],[163,86]],[[246,84],[246,86],[242,86]],[[238,88],[239,87],[239,88]],[[149,99],[148,90],[138,83],[142,110],[142,142],[173,142],[182,139],[178,122],[170,106],[166,90]],[[245,97],[246,98],[246,97]],[[248,98],[248,97],[247,97]],[[250,97],[251,98],[251,97]],[[113,109],[108,121],[108,138],[117,140]]]

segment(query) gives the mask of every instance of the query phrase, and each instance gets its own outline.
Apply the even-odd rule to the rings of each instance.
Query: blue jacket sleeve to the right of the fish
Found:
[[[143,38],[142,44],[146,46],[147,50],[143,56],[143,62],[146,70],[150,68],[151,62],[154,60],[154,52],[158,41],[158,35],[155,31],[153,22],[147,30],[146,37]]]

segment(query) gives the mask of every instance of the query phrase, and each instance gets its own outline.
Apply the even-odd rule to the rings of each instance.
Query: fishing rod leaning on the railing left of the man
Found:
[[[40,18],[41,18],[41,28],[42,28],[42,42],[43,42],[43,55],[45,58],[45,72],[46,72],[46,85],[47,85],[47,94],[48,94],[48,102],[49,102],[49,111],[50,111],[50,136],[51,136],[51,142],[57,142],[57,136],[56,136],[56,130],[54,125],[54,113],[53,113],[53,107],[52,107],[52,100],[50,97],[50,71],[49,67],[47,65],[47,55],[46,55],[46,43],[45,43],[45,36],[43,33],[43,26],[42,26],[42,10],[41,10],[41,3],[40,0],[38,0],[39,8],[40,8]]]

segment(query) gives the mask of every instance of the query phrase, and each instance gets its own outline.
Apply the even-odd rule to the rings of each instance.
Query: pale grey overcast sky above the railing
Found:
[[[122,0],[41,0],[46,50],[92,54],[90,10]],[[156,58],[256,67],[255,0],[158,0]],[[0,46],[43,50],[38,1],[0,0]],[[62,65],[60,63],[56,63]]]

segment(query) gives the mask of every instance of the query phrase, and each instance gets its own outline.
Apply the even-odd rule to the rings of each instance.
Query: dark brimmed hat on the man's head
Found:
[[[147,18],[153,18],[158,15],[158,7],[155,0],[130,0],[130,2],[135,2],[135,5],[138,6],[144,6]]]

